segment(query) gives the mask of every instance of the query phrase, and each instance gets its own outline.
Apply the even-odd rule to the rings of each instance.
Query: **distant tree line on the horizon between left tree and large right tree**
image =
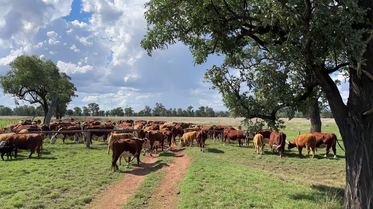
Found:
[[[67,116],[163,116],[163,117],[229,117],[231,113],[228,111],[215,112],[212,107],[198,107],[194,110],[193,106],[189,106],[186,110],[181,108],[166,109],[162,103],[156,103],[156,106],[151,109],[145,105],[144,109],[135,112],[132,107],[117,107],[112,110],[100,110],[97,103],[89,103],[82,108],[74,107],[72,110],[66,110]]]

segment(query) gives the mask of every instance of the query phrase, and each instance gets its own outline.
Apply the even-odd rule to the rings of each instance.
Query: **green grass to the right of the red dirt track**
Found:
[[[301,128],[306,127],[288,126],[284,132],[292,140],[298,130],[309,131]],[[336,126],[322,130],[339,136]],[[223,146],[211,140],[206,144],[204,153],[198,147],[186,149],[192,164],[182,182],[179,208],[343,208],[345,158],[340,148],[336,159],[330,153],[323,158],[325,149],[312,159],[299,157],[287,146],[280,158],[268,145],[258,157],[252,145],[239,148],[236,142]]]

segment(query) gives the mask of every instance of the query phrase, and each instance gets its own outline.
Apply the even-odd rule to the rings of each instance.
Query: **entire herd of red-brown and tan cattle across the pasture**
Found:
[[[226,142],[229,145],[230,140],[237,140],[239,147],[243,147],[244,144],[248,146],[249,141],[253,140],[257,154],[259,154],[259,152],[262,154],[264,145],[268,144],[273,152],[279,152],[280,157],[283,156],[285,151],[285,143],[288,144],[288,149],[297,147],[300,155],[302,154],[303,148],[307,149],[307,155],[312,151],[313,158],[317,148],[326,149],[324,157],[328,155],[330,148],[332,148],[334,157],[336,158],[336,143],[339,145],[337,137],[333,133],[310,132],[309,134],[298,135],[293,141],[288,141],[286,140],[285,133],[268,129],[245,134],[244,131],[236,130],[232,126],[203,126],[182,122],[169,123],[166,121],[119,120],[116,123],[109,120],[104,125],[101,125],[101,122],[93,119],[86,120],[81,124],[79,121],[74,122],[74,119],[71,118],[68,122],[62,122],[61,120],[57,120],[56,122],[50,121],[49,126],[40,124],[40,120],[21,120],[1,128],[0,132],[6,132],[6,134],[0,134],[1,158],[4,160],[3,156],[6,154],[8,159],[9,155],[12,159],[12,151],[14,151],[15,157],[17,157],[18,149],[29,149],[31,151],[29,157],[31,157],[34,152],[38,153],[38,158],[41,157],[44,134],[27,133],[35,131],[67,131],[52,135],[51,144],[56,143],[58,138],[62,139],[62,144],[64,144],[66,137],[70,137],[70,139],[74,138],[74,141],[78,141],[78,143],[83,137],[83,141],[86,143],[87,134],[86,132],[84,132],[84,134],[79,132],[81,130],[92,130],[90,131],[90,143],[92,143],[92,138],[102,137],[106,144],[109,138],[107,154],[112,150],[111,168],[114,169],[114,171],[118,170],[118,165],[116,164],[118,160],[121,165],[122,157],[127,163],[126,167],[129,167],[131,157],[132,160],[136,157],[137,164],[140,165],[142,149],[144,149],[143,155],[145,155],[145,150],[148,149],[152,156],[154,149],[156,153],[158,152],[158,148],[163,151],[164,142],[166,142],[168,145],[167,149],[170,150],[171,144],[176,144],[176,137],[178,136],[180,144],[184,146],[190,144],[190,147],[195,140],[202,152],[204,152],[206,139],[212,138],[215,142],[219,135],[220,139],[224,142],[223,146]],[[116,131],[111,131],[119,129],[128,129],[130,133],[120,134]],[[134,132],[131,132],[131,129],[134,129]],[[339,145],[339,147],[341,147],[341,145]],[[342,147],[341,149],[344,150]]]

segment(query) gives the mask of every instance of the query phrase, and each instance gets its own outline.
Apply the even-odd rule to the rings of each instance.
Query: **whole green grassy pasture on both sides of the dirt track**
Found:
[[[334,132],[343,146],[334,120],[322,122],[322,131]],[[211,123],[219,124],[217,120]],[[286,121],[286,125],[288,140],[299,131],[309,131],[305,119]],[[102,141],[94,141],[91,149],[66,142],[63,145],[59,139],[51,145],[50,138],[46,139],[41,159],[36,159],[35,154],[28,159],[29,151],[22,151],[16,160],[0,160],[0,208],[82,208],[129,171],[122,166],[120,172],[110,172],[111,154],[106,154],[107,145]],[[338,145],[336,159],[330,153],[323,158],[325,149],[319,149],[315,159],[299,157],[294,148],[286,149],[284,157],[279,158],[267,145],[261,157],[257,157],[252,145],[239,148],[233,142],[223,147],[221,142],[211,140],[206,145],[204,153],[195,142],[186,147],[192,164],[180,185],[179,208],[342,208],[345,159]],[[155,166],[162,167],[170,159],[169,152],[161,152]],[[156,192],[163,177],[163,173],[148,174],[123,207],[147,208],[138,197]]]

